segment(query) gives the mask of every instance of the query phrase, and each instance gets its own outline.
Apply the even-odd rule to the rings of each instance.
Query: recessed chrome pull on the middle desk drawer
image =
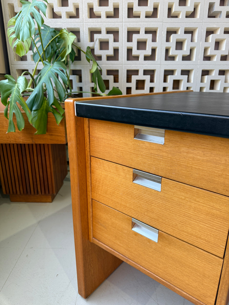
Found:
[[[161,192],[162,177],[133,169],[133,183]]]

